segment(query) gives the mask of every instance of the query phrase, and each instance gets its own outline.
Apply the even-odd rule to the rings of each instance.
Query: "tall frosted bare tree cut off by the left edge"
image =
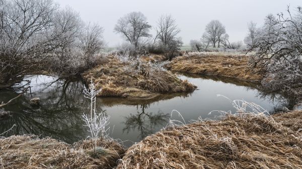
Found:
[[[53,49],[43,35],[58,7],[51,0],[3,0],[1,4],[0,83],[8,83],[22,77],[24,70],[33,69],[31,58]]]

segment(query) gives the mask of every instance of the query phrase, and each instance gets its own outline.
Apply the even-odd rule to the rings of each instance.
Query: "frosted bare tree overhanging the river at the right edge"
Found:
[[[294,15],[287,8],[287,15],[266,17],[255,45],[251,64],[265,74],[262,85],[267,90],[283,91],[290,97],[302,99],[302,9]]]

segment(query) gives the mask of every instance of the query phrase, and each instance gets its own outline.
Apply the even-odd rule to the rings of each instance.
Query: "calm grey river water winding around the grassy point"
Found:
[[[119,139],[125,146],[140,141],[145,136],[165,127],[169,119],[182,120],[172,110],[179,111],[185,122],[201,118],[212,118],[212,110],[231,110],[228,99],[244,99],[261,105],[274,112],[284,100],[272,99],[276,95],[265,95],[257,90],[257,84],[230,78],[206,77],[192,74],[179,74],[198,88],[193,93],[167,94],[152,100],[128,100],[125,98],[97,98],[97,110],[110,116],[109,135]],[[83,113],[89,113],[89,100],[83,96],[83,83],[79,79],[64,79],[45,75],[28,76],[31,94],[18,98],[8,105],[6,111],[11,115],[0,119],[0,133],[12,130],[5,136],[14,134],[36,134],[72,143],[89,135],[82,120]],[[22,85],[22,84],[21,84]],[[7,102],[18,95],[18,90],[0,90],[0,102]],[[29,100],[40,98],[40,106],[32,107]]]

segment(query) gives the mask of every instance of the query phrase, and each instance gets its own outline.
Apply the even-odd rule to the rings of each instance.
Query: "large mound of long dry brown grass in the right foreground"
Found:
[[[301,168],[300,128],[302,111],[174,126],[131,146],[118,168]]]

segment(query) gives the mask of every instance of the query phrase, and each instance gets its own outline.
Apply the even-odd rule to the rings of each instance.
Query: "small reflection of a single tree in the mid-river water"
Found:
[[[126,131],[127,133],[129,133],[129,131],[131,130],[137,130],[139,132],[139,135],[137,137],[143,139],[147,135],[154,133],[155,127],[157,125],[163,126],[168,122],[168,113],[165,114],[161,111],[158,111],[157,113],[146,112],[145,109],[147,109],[148,107],[148,104],[140,105],[140,107],[138,107],[137,105],[136,114],[130,114],[129,116],[124,117],[125,127],[123,128],[123,132]]]

